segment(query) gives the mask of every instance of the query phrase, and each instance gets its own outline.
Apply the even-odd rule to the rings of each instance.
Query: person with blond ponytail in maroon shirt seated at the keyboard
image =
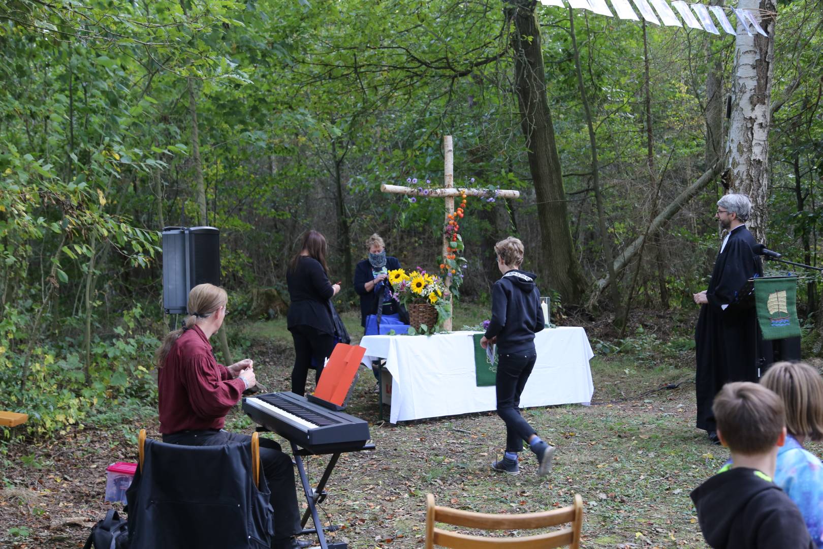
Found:
[[[229,367],[217,364],[209,337],[226,317],[226,291],[212,284],[194,286],[188,292],[184,328],[174,330],[157,350],[158,407],[163,442],[207,446],[246,442],[249,435],[223,430],[226,414],[239,402],[243,391],[253,387],[253,361],[244,359]],[[276,549],[302,547],[294,538],[300,533],[295,472],[291,458],[274,440],[260,439],[263,474],[272,490]]]

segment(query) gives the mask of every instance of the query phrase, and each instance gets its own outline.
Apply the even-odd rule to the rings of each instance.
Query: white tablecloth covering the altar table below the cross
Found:
[[[477,332],[433,336],[365,336],[363,363],[386,360],[392,376],[392,423],[424,417],[495,410],[495,387],[477,387],[474,340]],[[520,407],[588,403],[594,385],[588,361],[594,356],[583,328],[546,328],[535,334],[537,362]]]

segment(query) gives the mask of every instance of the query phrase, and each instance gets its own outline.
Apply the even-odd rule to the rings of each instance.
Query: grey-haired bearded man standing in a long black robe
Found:
[[[697,427],[719,444],[712,401],[723,384],[754,381],[760,361],[760,333],[751,300],[738,301],[738,293],[755,274],[762,276],[755,239],[745,222],[751,202],[745,194],[727,194],[718,200],[715,218],[728,230],[714,262],[709,289],[694,295],[701,305],[695,330],[697,375]]]

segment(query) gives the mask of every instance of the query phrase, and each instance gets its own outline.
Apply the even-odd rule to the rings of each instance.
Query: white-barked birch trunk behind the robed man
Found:
[[[766,202],[769,198],[769,128],[771,86],[774,72],[774,0],[740,0],[740,9],[756,14],[769,37],[749,36],[737,23],[734,101],[728,129],[728,180],[733,193],[751,198],[749,230],[765,241]]]

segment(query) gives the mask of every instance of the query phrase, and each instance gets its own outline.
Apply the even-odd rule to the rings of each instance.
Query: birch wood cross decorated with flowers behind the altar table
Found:
[[[488,188],[454,188],[454,148],[452,147],[452,136],[443,136],[443,153],[444,153],[444,188],[425,188],[424,193],[421,189],[415,187],[402,187],[400,185],[380,185],[380,190],[384,193],[391,194],[405,194],[412,197],[427,197],[427,198],[444,198],[446,203],[444,215],[444,229],[445,225],[449,224],[449,216],[454,213],[454,197],[466,196],[469,197],[495,197],[495,198],[519,198],[520,191],[510,191],[498,189],[496,191]],[[450,253],[449,236],[443,230],[443,258]],[[445,279],[446,288],[452,285],[452,276],[447,272]],[[451,332],[452,330],[452,294],[449,292],[449,319],[443,323],[443,329]]]

